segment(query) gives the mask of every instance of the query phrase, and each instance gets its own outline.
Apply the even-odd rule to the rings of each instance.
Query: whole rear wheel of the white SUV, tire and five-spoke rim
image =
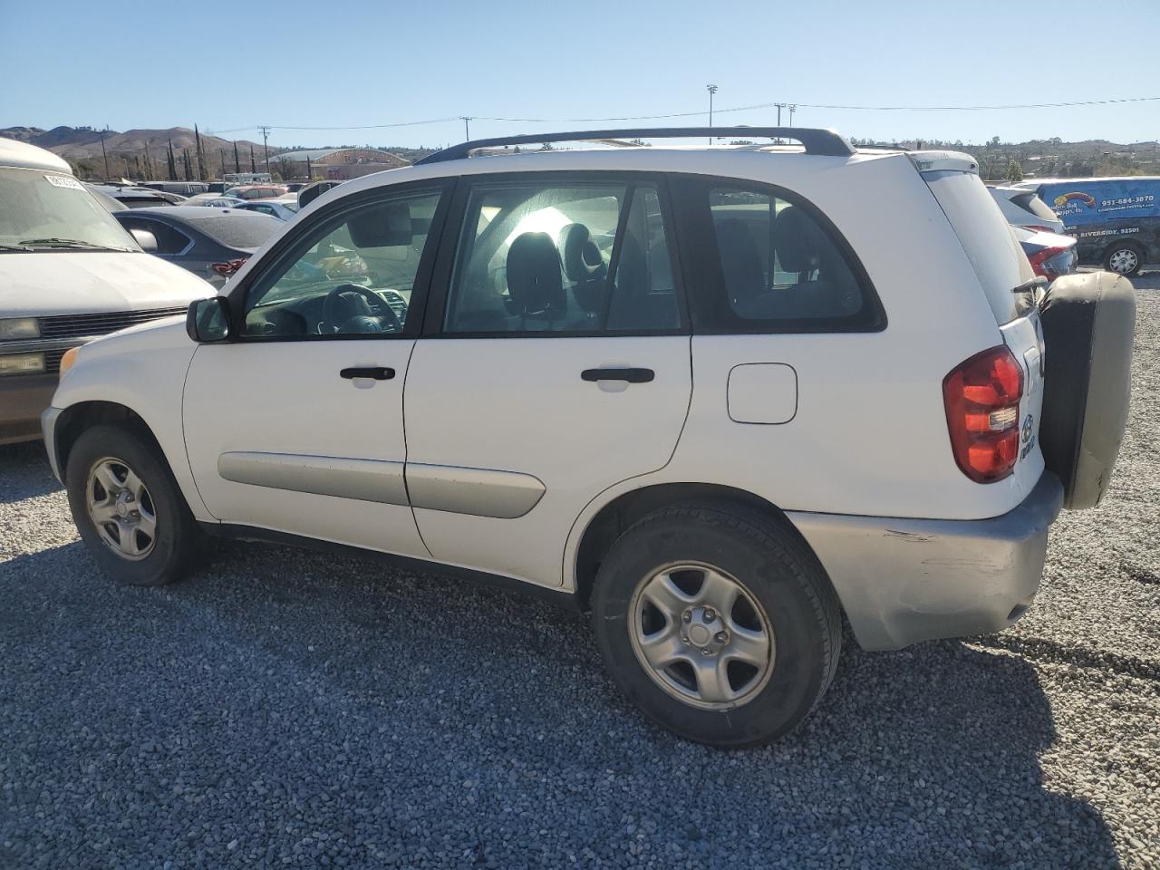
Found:
[[[612,679],[653,722],[715,746],[789,733],[829,686],[836,596],[800,539],[728,505],[664,508],[612,545],[593,588]]]

